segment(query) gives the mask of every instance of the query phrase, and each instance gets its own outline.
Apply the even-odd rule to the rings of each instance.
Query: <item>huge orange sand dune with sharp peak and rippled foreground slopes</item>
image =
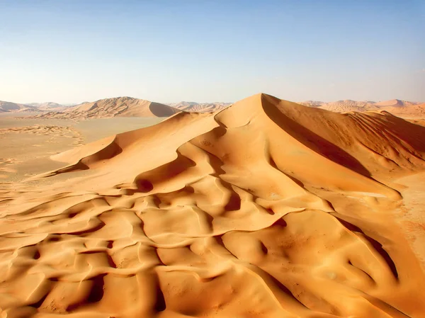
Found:
[[[259,94],[59,154],[68,166],[43,177],[67,181],[3,191],[0,307],[424,317],[423,268],[389,182],[425,168],[424,133],[385,112]]]

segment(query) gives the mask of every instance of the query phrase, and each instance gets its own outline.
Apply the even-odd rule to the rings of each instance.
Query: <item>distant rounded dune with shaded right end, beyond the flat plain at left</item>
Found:
[[[87,118],[112,117],[169,117],[179,110],[132,97],[106,98],[95,102],[82,103],[62,112],[43,113],[34,118],[58,118],[81,120]]]

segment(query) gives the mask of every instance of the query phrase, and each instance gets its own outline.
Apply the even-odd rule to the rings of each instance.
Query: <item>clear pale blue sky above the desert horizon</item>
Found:
[[[0,0],[0,100],[425,101],[424,0]]]

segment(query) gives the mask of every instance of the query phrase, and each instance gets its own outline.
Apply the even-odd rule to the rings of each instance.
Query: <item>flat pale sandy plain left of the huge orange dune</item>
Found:
[[[60,168],[50,160],[73,147],[128,130],[155,125],[165,118],[31,119],[33,113],[0,113],[0,182],[20,181]]]

